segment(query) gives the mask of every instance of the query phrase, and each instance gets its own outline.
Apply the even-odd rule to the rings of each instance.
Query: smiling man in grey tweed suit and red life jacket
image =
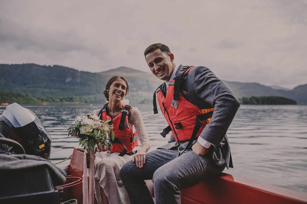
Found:
[[[120,170],[120,176],[131,204],[154,203],[144,182],[151,179],[156,204],[180,203],[179,189],[191,187],[218,175],[225,167],[233,167],[226,131],[240,103],[233,91],[210,69],[203,66],[176,67],[174,55],[163,44],[150,45],[144,55],[150,71],[165,81],[157,90],[161,91],[157,92],[157,96],[162,113],[164,112],[172,127],[172,134],[166,145],[147,153],[142,164],[132,161],[126,163]],[[181,69],[188,71],[183,73]],[[177,86],[180,87],[180,93],[179,97],[175,97],[174,94],[173,98],[176,80],[180,81],[180,86]],[[171,98],[172,102],[167,102],[168,98]],[[172,107],[167,106],[168,104]],[[181,104],[185,106],[182,107]],[[208,117],[202,119],[201,129],[194,128],[198,132],[197,136],[193,130],[193,133],[188,132],[192,133],[192,139],[181,139],[183,133],[186,133],[179,132],[179,129],[186,131],[186,121],[181,118],[185,117],[185,113],[191,114],[191,110],[196,109],[211,111],[211,115],[208,113],[211,121]],[[179,113],[176,117],[179,117],[180,122],[170,122],[175,118],[172,113]],[[197,113],[195,114],[197,116]],[[208,122],[204,122],[206,120]],[[193,121],[194,126],[197,126],[197,120]]]

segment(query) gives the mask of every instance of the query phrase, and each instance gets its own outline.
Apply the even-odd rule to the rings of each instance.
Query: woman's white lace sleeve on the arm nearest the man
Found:
[[[148,138],[148,134],[145,129],[142,115],[140,111],[138,110],[138,108],[134,107],[130,111],[128,115],[128,122],[134,125],[135,130],[138,133],[138,139],[140,140],[141,145],[146,143],[151,146],[149,138]]]

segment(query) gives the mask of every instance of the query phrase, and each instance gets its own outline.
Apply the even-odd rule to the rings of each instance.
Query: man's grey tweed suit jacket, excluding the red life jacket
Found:
[[[183,65],[178,67],[176,74],[182,67]],[[193,67],[189,70],[181,82],[180,91],[186,100],[200,109],[214,108],[212,120],[200,133],[200,137],[212,143],[207,154],[217,165],[232,167],[226,131],[240,106],[239,99],[222,80],[217,78],[210,69],[203,66]],[[165,83],[162,85],[162,93],[166,95]],[[196,141],[197,138],[192,145]],[[188,141],[181,143],[180,150],[183,150],[187,144]],[[159,149],[175,147],[176,141],[171,134],[168,143]]]

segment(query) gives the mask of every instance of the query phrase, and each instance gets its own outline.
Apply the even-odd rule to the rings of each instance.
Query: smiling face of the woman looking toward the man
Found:
[[[126,82],[121,78],[117,78],[113,81],[110,88],[108,89],[109,92],[109,101],[115,100],[120,101],[126,95]]]

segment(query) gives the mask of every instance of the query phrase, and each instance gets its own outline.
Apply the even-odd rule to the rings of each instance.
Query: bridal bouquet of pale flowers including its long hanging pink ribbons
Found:
[[[89,188],[87,186],[87,162],[86,151],[84,151],[83,160],[83,203],[94,203],[94,154],[98,151],[97,146],[102,150],[108,149],[112,146],[110,140],[110,132],[112,140],[114,140],[114,132],[111,131],[113,125],[109,125],[107,121],[99,120],[98,116],[87,115],[76,117],[68,128],[68,135],[79,138],[80,145],[84,147],[84,150],[90,150],[90,165],[89,165]],[[95,152],[94,152],[95,149]]]

